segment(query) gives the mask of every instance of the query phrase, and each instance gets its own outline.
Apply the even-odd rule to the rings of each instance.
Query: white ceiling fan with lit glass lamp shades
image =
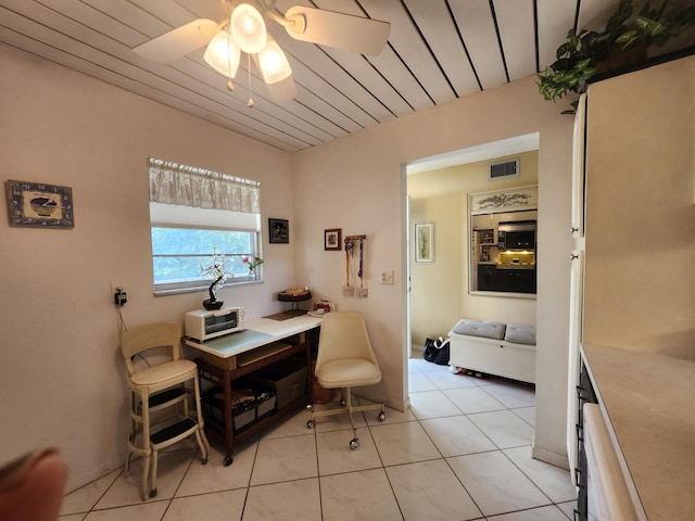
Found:
[[[270,96],[287,101],[298,96],[292,80],[292,68],[267,30],[271,20],[294,39],[333,47],[358,54],[378,55],[389,39],[388,22],[351,14],[294,5],[278,14],[275,0],[220,0],[228,16],[220,22],[198,18],[165,33],[136,48],[143,58],[168,63],[206,46],[205,62],[228,78],[227,87],[237,74],[241,53],[253,58]],[[249,98],[249,106],[253,101]]]

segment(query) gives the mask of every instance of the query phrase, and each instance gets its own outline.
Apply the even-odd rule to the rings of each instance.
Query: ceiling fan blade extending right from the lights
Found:
[[[285,13],[288,34],[298,40],[377,56],[389,39],[391,24],[323,9],[294,5]]]

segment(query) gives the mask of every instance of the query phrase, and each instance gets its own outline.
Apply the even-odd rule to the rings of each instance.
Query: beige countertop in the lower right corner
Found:
[[[646,519],[693,519],[695,361],[591,344],[582,352]]]

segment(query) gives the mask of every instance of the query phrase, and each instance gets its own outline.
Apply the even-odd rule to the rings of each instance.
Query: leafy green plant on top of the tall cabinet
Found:
[[[694,25],[695,5],[675,5],[664,0],[659,8],[653,8],[647,2],[634,14],[633,0],[620,0],[604,30],[567,33],[567,41],[557,48],[557,60],[539,74],[539,91],[553,102],[578,94],[592,76],[619,66],[615,58],[622,60],[621,65],[644,60],[648,47],[662,47]],[[563,114],[573,114],[577,101],[571,105]]]

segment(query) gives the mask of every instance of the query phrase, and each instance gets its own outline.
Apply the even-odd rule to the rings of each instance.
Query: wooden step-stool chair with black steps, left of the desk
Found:
[[[200,407],[198,366],[191,360],[180,358],[180,343],[181,328],[176,322],[141,326],[126,331],[121,339],[121,353],[129,377],[131,424],[125,474],[130,474],[130,456],[141,456],[143,501],[156,496],[159,450],[194,434],[203,465],[207,462],[210,454]],[[155,347],[163,348],[168,354],[168,360],[156,365],[148,363],[144,369],[136,368],[136,355],[141,356],[141,353]],[[185,383],[189,381],[193,383],[193,411],[189,405],[191,391],[185,387]],[[155,420],[153,415],[156,417]],[[164,427],[157,432],[152,432],[155,424]]]

